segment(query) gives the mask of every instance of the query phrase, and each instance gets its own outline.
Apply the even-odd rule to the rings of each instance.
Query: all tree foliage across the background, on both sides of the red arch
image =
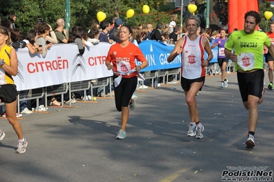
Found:
[[[215,0],[210,0],[215,1]],[[43,18],[49,25],[54,28],[58,18],[65,18],[65,0],[0,0],[0,16],[4,20],[10,13],[16,14],[15,25],[21,31],[28,31],[33,29],[36,20]],[[195,12],[201,18],[201,27],[205,27],[205,9],[206,3],[202,0],[196,0],[198,10]],[[111,23],[113,17],[119,16],[122,20],[130,26],[137,26],[140,23],[151,23],[155,25],[158,22],[163,24],[170,23],[172,13],[178,14],[179,20],[177,24],[180,25],[181,9],[175,7],[175,3],[166,3],[165,0],[78,0],[70,1],[70,26],[78,25],[84,29],[89,29],[94,21],[97,21],[96,14],[102,11],[106,14],[106,21]],[[148,5],[150,12],[144,14],[142,7]],[[222,25],[227,25],[227,0],[219,0],[219,12],[214,12],[214,15],[220,18]],[[132,18],[126,18],[126,12],[133,9],[135,14]],[[264,18],[265,11],[272,11],[271,3],[267,1],[260,1],[260,14],[262,15],[262,22],[260,27],[268,29],[269,21]],[[190,16],[187,8],[184,8],[183,18]]]

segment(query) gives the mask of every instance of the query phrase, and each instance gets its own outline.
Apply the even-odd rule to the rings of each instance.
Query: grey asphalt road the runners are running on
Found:
[[[125,140],[115,140],[120,113],[113,98],[23,115],[20,122],[28,141],[23,154],[15,153],[16,134],[2,119],[0,129],[6,136],[0,142],[0,181],[218,182],[222,174],[242,175],[242,181],[248,181],[240,171],[254,171],[253,166],[265,167],[264,178],[273,177],[274,92],[267,89],[265,74],[253,149],[245,148],[248,112],[236,74],[229,74],[228,88],[220,88],[220,76],[207,77],[196,96],[205,127],[201,140],[187,137],[190,117],[180,83],[136,92],[137,108],[130,111]],[[235,169],[238,166],[242,169]],[[250,172],[253,178],[259,176]]]

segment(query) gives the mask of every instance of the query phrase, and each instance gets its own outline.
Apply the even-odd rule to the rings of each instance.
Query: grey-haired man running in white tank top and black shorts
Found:
[[[196,138],[203,138],[204,127],[199,121],[195,96],[205,82],[205,66],[213,58],[208,40],[196,34],[200,23],[201,21],[197,16],[189,16],[185,19],[188,36],[184,36],[176,42],[168,57],[168,62],[172,62],[177,55],[182,57],[181,86],[185,91],[185,101],[190,113],[187,135],[196,136]],[[208,55],[206,60],[204,51]]]

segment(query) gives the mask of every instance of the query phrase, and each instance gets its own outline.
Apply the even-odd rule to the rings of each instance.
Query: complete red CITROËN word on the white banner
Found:
[[[58,57],[60,58],[60,57]],[[52,62],[35,62],[27,64],[28,73],[44,72],[45,70],[62,70],[69,68],[68,60],[52,60]]]

